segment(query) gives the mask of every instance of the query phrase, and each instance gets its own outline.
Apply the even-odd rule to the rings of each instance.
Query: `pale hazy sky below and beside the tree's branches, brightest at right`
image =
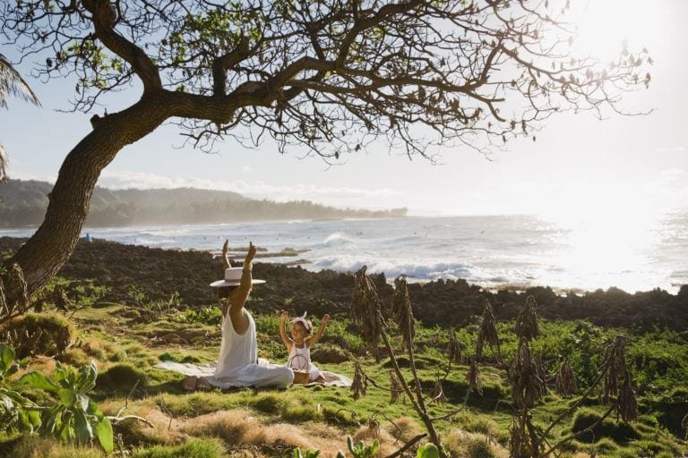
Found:
[[[575,2],[573,2],[575,3]],[[409,208],[409,215],[605,215],[688,208],[688,0],[596,0],[583,3],[581,52],[613,55],[628,40],[654,59],[648,90],[622,106],[642,116],[562,114],[538,140],[514,140],[490,160],[470,148],[447,148],[438,164],[409,161],[387,148],[326,165],[317,157],[280,155],[265,143],[232,142],[216,154],[179,148],[184,138],[167,125],[123,149],[101,174],[113,188],[197,188],[236,191],[273,200],[307,199],[349,208]],[[7,47],[0,52],[12,56]],[[42,108],[11,99],[0,110],[0,142],[14,179],[54,182],[64,157],[90,131],[91,114],[69,109],[72,81],[47,84],[18,70]],[[112,111],[112,110],[110,110]]]

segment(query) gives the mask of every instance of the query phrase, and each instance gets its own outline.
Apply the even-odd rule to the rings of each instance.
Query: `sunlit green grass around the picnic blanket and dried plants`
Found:
[[[155,431],[141,425],[137,427],[141,433],[134,431],[133,427],[117,427],[120,429],[116,432],[119,431],[123,437],[120,445],[130,456],[225,456],[228,448],[234,446],[226,439],[219,443],[207,437],[168,437],[171,432],[167,431],[167,423],[183,423],[202,415],[236,409],[251,412],[250,415],[261,425],[322,424],[339,430],[340,438],[354,434],[357,428],[370,421],[379,422],[387,431],[395,431],[398,427],[394,422],[401,418],[410,419],[415,428],[424,430],[408,400],[391,404],[390,393],[373,384],[368,385],[367,395],[357,401],[348,388],[322,386],[187,394],[181,387],[183,375],[154,366],[160,360],[200,364],[213,361],[219,352],[220,333],[216,322],[219,312],[216,308],[179,311],[167,310],[166,307],[161,304],[150,306],[146,309],[152,310],[149,318],[145,318],[145,313],[148,313],[145,310],[116,303],[99,302],[97,307],[77,310],[73,315],[77,343],[63,356],[63,360],[73,363],[96,361],[100,376],[94,399],[106,406],[108,414],[115,414],[127,404],[124,415],[157,416],[160,426]],[[254,318],[261,356],[275,363],[285,363],[287,354],[277,334],[279,317],[273,313],[256,314]],[[502,356],[504,360],[511,360],[516,351],[513,324],[499,323],[498,327],[500,335],[504,336]],[[540,328],[543,335],[532,344],[532,348],[546,361],[546,371],[553,375],[561,358],[568,356],[581,389],[596,373],[604,346],[617,334],[615,329],[594,327],[584,321],[545,322],[540,324]],[[476,331],[477,327],[456,330],[464,355],[474,354]],[[448,439],[452,453],[476,458],[499,456],[508,448],[513,413],[506,374],[503,369],[481,366],[483,394],[469,393],[467,366],[453,363],[449,373],[446,371],[448,336],[447,330],[441,327],[426,328],[417,324],[416,367],[421,386],[425,393],[429,393],[440,378],[446,398],[445,403],[429,403],[429,414],[441,418],[435,421],[435,426],[443,437],[452,437]],[[628,362],[633,379],[640,382],[639,421],[624,425],[616,422],[612,415],[595,429],[594,435],[577,437],[563,446],[562,456],[589,453],[591,445],[599,456],[616,458],[639,455],[667,457],[688,453],[688,446],[681,440],[683,431],[680,425],[683,415],[688,413],[688,390],[684,388],[688,379],[688,344],[684,339],[685,335],[662,330],[629,335]],[[410,383],[409,357],[399,350],[398,339],[392,338],[392,341],[397,361]],[[366,345],[348,318],[332,318],[321,342],[319,346],[339,348],[351,358],[340,364],[319,364],[321,369],[353,377],[353,359],[357,358],[374,384],[389,386],[391,361],[385,357],[375,361],[367,355]],[[487,349],[486,357],[493,356],[493,352]],[[140,380],[139,386],[128,400],[125,399],[136,380]],[[17,386],[16,380],[10,383]],[[31,394],[34,399],[39,396],[39,393]],[[563,398],[554,393],[546,394],[532,410],[534,423],[538,428],[546,428],[550,420],[567,412],[576,399],[576,396]],[[429,399],[426,398],[427,401]],[[606,406],[600,405],[597,393],[594,394],[579,409],[568,412],[553,428],[550,443],[585,428],[605,410]],[[180,440],[186,443],[179,445],[175,442]],[[45,442],[41,446],[30,444],[23,439],[17,441],[16,437],[0,437],[0,451],[7,451],[7,456],[34,456],[17,452],[31,447],[50,451],[36,456],[72,456],[61,446],[46,446]],[[82,455],[101,454],[95,448],[79,449],[73,456]]]

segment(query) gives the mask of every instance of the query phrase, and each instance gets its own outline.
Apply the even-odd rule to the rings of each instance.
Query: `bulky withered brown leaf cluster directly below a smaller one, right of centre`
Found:
[[[512,399],[519,410],[532,407],[545,394],[545,381],[538,376],[538,367],[530,352],[529,342],[521,338],[516,359],[509,369]]]

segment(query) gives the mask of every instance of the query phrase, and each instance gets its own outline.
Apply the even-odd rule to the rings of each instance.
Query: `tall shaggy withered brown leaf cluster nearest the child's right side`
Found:
[[[377,288],[370,276],[366,275],[366,266],[354,274],[354,300],[351,307],[353,320],[363,331],[366,344],[373,350],[375,360],[380,360],[377,343],[382,333],[380,300]]]

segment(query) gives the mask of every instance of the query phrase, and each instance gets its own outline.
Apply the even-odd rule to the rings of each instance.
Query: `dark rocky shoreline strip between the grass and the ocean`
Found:
[[[8,257],[25,239],[0,237],[0,256]],[[237,250],[238,251],[238,250]],[[135,304],[142,296],[153,301],[178,298],[181,307],[203,307],[217,302],[208,286],[221,276],[218,257],[206,251],[162,250],[95,240],[77,244],[72,258],[59,273],[72,284],[67,295],[78,302],[84,290],[107,290],[99,301]],[[259,312],[286,309],[290,313],[316,316],[348,314],[353,276],[332,270],[309,272],[302,267],[254,264],[254,277],[267,280],[255,288],[252,308]],[[389,306],[393,290],[384,275],[374,275],[383,307]],[[105,288],[102,288],[105,287]],[[525,291],[486,291],[464,280],[439,280],[409,284],[414,315],[426,325],[460,327],[474,323],[490,301],[498,320],[515,318],[528,295],[538,301],[538,313],[546,319],[588,319],[610,327],[688,328],[688,286],[671,294],[655,289],[625,293],[616,288],[582,294],[561,295],[548,287]],[[139,298],[139,299],[137,299]]]

